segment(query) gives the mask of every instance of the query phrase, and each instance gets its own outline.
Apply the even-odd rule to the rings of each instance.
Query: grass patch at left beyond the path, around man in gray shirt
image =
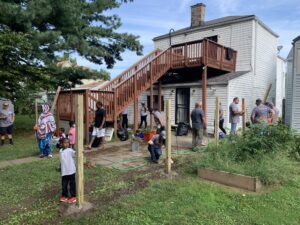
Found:
[[[14,145],[8,144],[8,139],[5,140],[5,145],[0,146],[0,161],[39,155],[33,130],[34,124],[34,119],[29,116],[16,116],[13,134]]]

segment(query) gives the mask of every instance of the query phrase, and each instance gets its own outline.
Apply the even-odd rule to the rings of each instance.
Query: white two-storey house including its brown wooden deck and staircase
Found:
[[[99,90],[73,92],[86,96],[86,131],[97,100],[104,102],[107,122],[117,129],[117,117],[125,108],[129,123],[137,128],[142,102],[165,111],[164,103],[170,99],[171,123],[176,125],[190,122],[191,110],[202,101],[208,127],[213,127],[217,96],[225,111],[225,126],[229,125],[228,108],[234,97],[245,98],[247,119],[255,100],[264,98],[270,84],[273,90],[267,100],[276,98],[278,35],[274,31],[254,15],[205,21],[201,3],[191,7],[191,15],[189,27],[155,37],[156,50]],[[60,94],[59,118],[64,120],[74,115],[68,99],[68,92]],[[85,135],[87,138],[88,133]]]

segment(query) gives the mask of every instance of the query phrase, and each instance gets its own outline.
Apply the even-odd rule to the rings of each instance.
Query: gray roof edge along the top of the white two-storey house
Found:
[[[225,25],[231,25],[233,23],[244,22],[248,20],[256,20],[260,25],[262,25],[265,29],[267,29],[270,33],[274,36],[279,37],[273,30],[271,30],[267,25],[265,25],[261,20],[259,20],[255,15],[246,15],[246,16],[225,16],[214,20],[205,21],[203,24],[195,27],[186,27],[175,32],[172,32],[172,36],[178,34],[185,34],[189,32],[199,31],[199,30],[206,30],[216,27],[222,27]],[[153,41],[157,41],[163,38],[169,37],[169,33],[157,36],[153,38]]]

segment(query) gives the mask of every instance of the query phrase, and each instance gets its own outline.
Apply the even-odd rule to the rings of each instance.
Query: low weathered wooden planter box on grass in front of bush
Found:
[[[205,180],[210,180],[230,187],[241,188],[254,192],[259,191],[262,186],[256,177],[207,168],[198,169],[198,176]]]

